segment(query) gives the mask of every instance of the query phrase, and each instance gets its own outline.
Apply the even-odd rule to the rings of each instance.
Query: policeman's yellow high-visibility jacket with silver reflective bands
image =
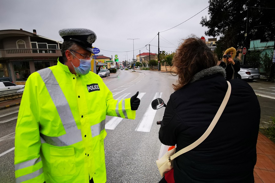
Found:
[[[97,74],[74,75],[60,62],[31,74],[15,130],[16,183],[106,182],[106,115],[136,113]]]

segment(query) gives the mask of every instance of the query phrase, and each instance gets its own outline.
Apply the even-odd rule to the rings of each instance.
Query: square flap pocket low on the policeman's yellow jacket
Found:
[[[75,149],[50,147],[50,166],[53,177],[75,174]]]

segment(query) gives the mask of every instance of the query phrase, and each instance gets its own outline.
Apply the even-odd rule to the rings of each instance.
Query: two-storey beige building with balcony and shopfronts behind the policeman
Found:
[[[25,84],[29,75],[57,64],[62,42],[36,34],[36,30],[0,30],[0,77]]]

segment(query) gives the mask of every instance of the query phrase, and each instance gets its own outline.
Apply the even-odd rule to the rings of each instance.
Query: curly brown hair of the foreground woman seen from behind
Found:
[[[217,65],[218,58],[207,45],[196,36],[183,40],[172,60],[178,80],[173,84],[174,90],[185,86],[201,70]]]

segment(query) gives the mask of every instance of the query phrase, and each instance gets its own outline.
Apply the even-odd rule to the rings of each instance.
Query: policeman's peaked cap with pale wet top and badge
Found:
[[[74,41],[82,48],[94,53],[92,44],[97,39],[97,35],[94,31],[84,28],[69,28],[59,30],[59,35],[64,41]]]

